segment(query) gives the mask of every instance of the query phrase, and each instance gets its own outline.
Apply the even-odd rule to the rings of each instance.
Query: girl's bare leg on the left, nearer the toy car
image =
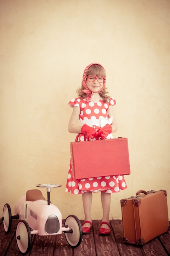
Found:
[[[91,219],[91,204],[92,204],[92,192],[84,192],[82,194],[83,208],[84,208],[84,221]],[[83,225],[83,227],[90,227],[89,223]]]

